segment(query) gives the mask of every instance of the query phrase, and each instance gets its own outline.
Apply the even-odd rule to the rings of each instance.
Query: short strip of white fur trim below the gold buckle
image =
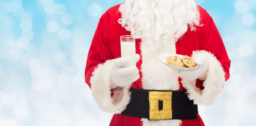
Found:
[[[181,126],[181,120],[148,120],[142,118],[143,126]]]

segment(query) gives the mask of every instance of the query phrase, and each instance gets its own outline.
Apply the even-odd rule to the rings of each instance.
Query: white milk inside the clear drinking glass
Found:
[[[125,67],[136,67],[136,49],[135,42],[121,42],[121,57],[129,57],[130,63],[122,66]]]

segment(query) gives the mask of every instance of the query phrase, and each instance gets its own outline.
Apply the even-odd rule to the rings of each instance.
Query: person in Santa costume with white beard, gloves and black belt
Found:
[[[136,67],[121,67],[130,62],[120,58],[122,35],[139,38]],[[199,67],[174,71],[161,54],[191,56]],[[110,126],[204,126],[197,105],[214,104],[230,62],[213,19],[194,0],[127,0],[100,18],[85,81],[99,108],[114,113]]]

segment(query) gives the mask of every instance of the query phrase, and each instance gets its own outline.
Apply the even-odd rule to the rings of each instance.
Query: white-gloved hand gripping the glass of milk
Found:
[[[136,62],[138,62],[139,59],[140,56],[136,54]],[[110,71],[110,78],[112,81],[112,85],[110,85],[110,88],[114,89],[118,86],[124,87],[126,85],[132,84],[139,79],[139,69],[137,67],[121,68],[121,66],[129,63],[130,58],[128,57],[116,59]]]

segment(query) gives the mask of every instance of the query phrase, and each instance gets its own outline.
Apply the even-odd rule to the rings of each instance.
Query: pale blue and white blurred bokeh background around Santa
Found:
[[[100,16],[124,0],[0,0],[0,126],[106,126],[84,83]],[[256,1],[196,0],[212,15],[232,61],[206,126],[256,124]]]

